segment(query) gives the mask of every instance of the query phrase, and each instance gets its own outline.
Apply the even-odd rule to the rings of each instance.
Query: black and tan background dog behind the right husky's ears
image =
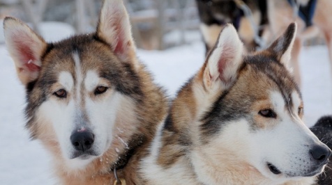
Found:
[[[252,11],[252,17],[259,28],[258,35],[263,36],[264,29],[269,20],[266,13],[266,0],[244,0]],[[258,43],[254,40],[255,31],[248,17],[234,0],[196,0],[199,26],[207,52],[213,48],[223,26],[232,23],[239,32],[248,51],[254,51]]]

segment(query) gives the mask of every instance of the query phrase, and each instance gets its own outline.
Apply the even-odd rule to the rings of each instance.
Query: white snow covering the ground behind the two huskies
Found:
[[[52,26],[52,25],[51,25]],[[46,26],[50,29],[51,26]],[[68,37],[70,31],[44,34]],[[50,36],[49,35],[49,36]],[[58,38],[48,38],[54,40]],[[174,47],[165,51],[139,50],[139,59],[164,86],[170,96],[193,76],[204,62],[204,45]],[[305,120],[311,126],[322,115],[332,113],[332,81],[326,47],[306,47],[301,52]],[[24,87],[15,74],[15,67],[0,44],[0,184],[55,184],[50,154],[37,140],[29,140],[24,129]]]

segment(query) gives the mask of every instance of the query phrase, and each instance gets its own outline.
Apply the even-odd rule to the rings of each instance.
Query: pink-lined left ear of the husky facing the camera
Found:
[[[13,17],[3,20],[3,33],[20,81],[27,85],[36,80],[42,65],[40,58],[47,48],[45,40]]]

